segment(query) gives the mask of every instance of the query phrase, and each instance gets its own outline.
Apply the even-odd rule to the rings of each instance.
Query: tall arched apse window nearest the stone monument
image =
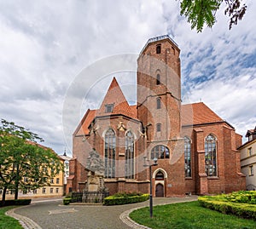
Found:
[[[105,177],[115,177],[115,134],[108,129],[105,135]]]

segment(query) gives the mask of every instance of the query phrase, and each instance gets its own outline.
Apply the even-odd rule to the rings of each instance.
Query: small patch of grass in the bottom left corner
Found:
[[[14,206],[8,206],[0,208],[0,229],[22,229],[18,220],[5,215],[9,209],[15,208]]]

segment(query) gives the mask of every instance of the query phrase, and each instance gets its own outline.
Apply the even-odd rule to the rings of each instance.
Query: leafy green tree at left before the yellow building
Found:
[[[63,169],[58,155],[38,144],[43,141],[37,134],[2,119],[0,126],[0,188],[2,204],[7,190],[27,192],[49,185],[50,178]]]

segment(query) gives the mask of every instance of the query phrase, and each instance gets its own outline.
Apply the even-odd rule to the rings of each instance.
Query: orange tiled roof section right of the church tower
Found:
[[[224,122],[221,117],[203,102],[183,105],[181,108],[182,125]]]

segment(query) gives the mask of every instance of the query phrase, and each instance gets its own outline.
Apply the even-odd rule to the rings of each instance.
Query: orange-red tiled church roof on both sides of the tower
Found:
[[[105,106],[109,104],[113,104],[113,112],[106,113]],[[121,114],[137,119],[137,106],[130,106],[128,104],[115,77],[113,77],[113,81],[108,88],[108,92],[102,101],[100,109],[88,109],[79,123],[78,128],[75,130],[74,135],[89,135],[89,126],[95,117],[113,114]],[[221,117],[218,117],[215,112],[212,112],[212,110],[203,102],[200,102],[181,106],[181,122],[184,126],[204,123],[219,123],[224,122],[224,120]]]

